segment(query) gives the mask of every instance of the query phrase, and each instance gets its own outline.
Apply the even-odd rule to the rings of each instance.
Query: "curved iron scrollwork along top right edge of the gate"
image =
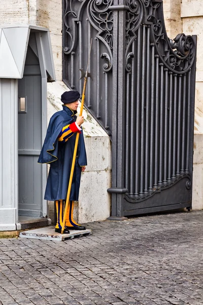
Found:
[[[147,21],[153,23],[151,33],[160,59],[175,73],[187,72],[195,57],[195,43],[192,36],[179,34],[174,41],[168,39],[164,27],[162,3],[152,0],[146,0],[144,3]]]

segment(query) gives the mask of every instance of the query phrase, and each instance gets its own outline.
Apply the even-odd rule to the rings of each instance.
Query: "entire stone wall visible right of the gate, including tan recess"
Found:
[[[194,160],[193,160],[193,209],[203,208],[203,0],[163,0],[167,35],[197,35]]]

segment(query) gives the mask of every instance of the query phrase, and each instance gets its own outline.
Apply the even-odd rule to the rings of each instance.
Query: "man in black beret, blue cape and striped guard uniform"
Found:
[[[78,91],[64,92],[61,95],[63,110],[52,115],[38,160],[39,163],[50,164],[45,199],[54,201],[56,204],[57,223],[55,232],[61,233],[63,218],[65,217],[65,227],[62,232],[64,234],[69,234],[69,230],[86,229],[77,224],[73,219],[74,201],[78,200],[79,196],[81,172],[84,172],[87,165],[85,143],[81,128],[84,118],[83,116],[76,116],[79,98],[80,94]],[[64,215],[63,211],[71,175],[77,133],[80,133],[77,156],[70,200],[67,206],[67,213]]]

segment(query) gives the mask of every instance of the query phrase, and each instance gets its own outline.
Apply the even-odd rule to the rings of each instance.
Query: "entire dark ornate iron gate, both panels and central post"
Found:
[[[196,36],[169,40],[161,0],[64,0],[63,80],[112,139],[112,217],[191,208]]]

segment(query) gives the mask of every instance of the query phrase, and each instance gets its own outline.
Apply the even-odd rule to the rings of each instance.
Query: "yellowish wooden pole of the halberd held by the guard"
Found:
[[[82,115],[82,112],[83,112],[83,106],[84,106],[84,101],[85,101],[86,84],[87,84],[87,77],[84,78],[82,101],[81,101],[81,108],[80,108],[80,116]],[[74,148],[74,153],[73,153],[73,162],[72,162],[72,167],[71,167],[71,175],[70,175],[70,180],[69,180],[69,187],[67,189],[67,197],[66,197],[66,201],[65,201],[64,216],[67,214],[67,207],[69,206],[69,199],[70,199],[70,194],[71,194],[71,186],[72,186],[72,181],[73,181],[73,173],[74,173],[74,168],[75,168],[75,163],[76,163],[76,154],[77,154],[77,149],[78,149],[79,136],[80,136],[80,134],[79,134],[79,132],[77,132],[75,148]],[[63,217],[63,225],[62,225],[62,229],[61,229],[61,234],[63,234],[64,228],[65,228],[65,220],[66,220],[66,217]]]

